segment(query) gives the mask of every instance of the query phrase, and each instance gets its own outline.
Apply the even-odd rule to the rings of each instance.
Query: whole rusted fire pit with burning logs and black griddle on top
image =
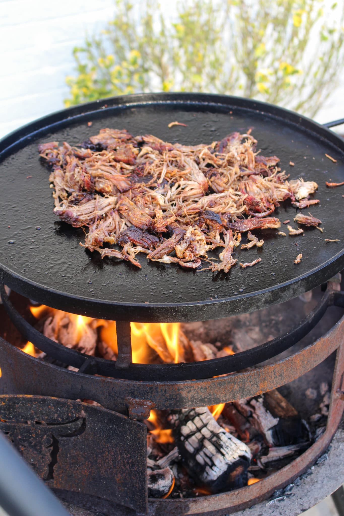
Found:
[[[13,329],[5,335],[5,319],[0,344],[1,428],[64,499],[79,493],[78,503],[84,494],[101,499],[102,507],[116,503],[117,511],[125,506],[142,514],[231,513],[286,486],[331,442],[344,406],[344,320],[317,338],[310,332],[327,308],[344,307],[344,295],[330,282],[322,294],[317,292],[317,303],[304,319],[294,318],[294,326],[290,316],[283,316],[285,305],[279,305],[273,310],[280,316],[281,332],[274,334],[270,328],[266,335],[261,333],[264,338],[250,337],[251,345],[240,338],[231,340],[228,329],[233,330],[236,317],[245,331],[240,313],[271,307],[325,284],[344,266],[341,245],[325,246],[320,232],[318,236],[315,229],[307,231],[293,240],[306,257],[294,266],[285,263],[286,244],[270,235],[263,250],[265,268],[250,271],[245,279],[236,273],[231,279],[202,276],[156,264],[145,264],[139,273],[126,264],[112,266],[80,254],[78,231],[54,221],[50,199],[43,202],[41,212],[34,205],[27,208],[29,214],[26,205],[23,208],[27,192],[32,199],[43,199],[46,191],[43,168],[40,178],[35,177],[39,165],[32,151],[48,131],[56,140],[72,132],[82,141],[87,121],[104,125],[107,117],[121,116],[124,125],[130,120],[158,120],[165,127],[171,116],[183,116],[191,126],[201,126],[202,121],[203,130],[209,120],[217,130],[228,120],[237,127],[254,124],[266,146],[264,136],[271,137],[266,127],[273,123],[283,133],[282,153],[293,152],[296,163],[300,153],[306,157],[307,178],[320,168],[323,174],[324,153],[335,156],[339,164],[343,143],[302,117],[251,101],[177,94],[128,99],[125,105],[117,98],[111,105],[107,101],[68,110],[75,118],[68,119],[68,111],[63,111],[3,141],[0,169],[10,166],[18,177],[8,182],[1,176],[0,202],[5,207],[17,195],[22,207],[0,232],[3,241],[7,239],[0,256],[1,280],[19,294],[10,299],[4,287],[0,292],[3,308],[24,341]],[[38,133],[32,143],[34,131]],[[26,167],[35,168],[32,177],[27,176],[29,183],[19,188],[23,160]],[[342,174],[338,165],[331,180],[339,182]],[[322,220],[331,218],[327,195],[319,190]],[[331,197],[331,216],[337,209],[339,221],[326,234],[329,238],[342,231],[337,197]],[[283,209],[286,218],[294,211],[291,206]],[[22,240],[27,217],[34,244],[29,258]],[[226,315],[232,315],[232,323],[188,324]],[[181,327],[176,321],[185,324]],[[292,346],[299,341],[296,350]],[[326,365],[323,378],[312,373],[321,399],[304,421],[295,399],[288,399],[288,389],[275,389],[297,379],[302,382],[303,375],[335,351],[331,396]],[[38,358],[40,352],[45,356]],[[320,396],[318,391],[302,391],[307,404]],[[127,510],[123,508],[123,514]]]

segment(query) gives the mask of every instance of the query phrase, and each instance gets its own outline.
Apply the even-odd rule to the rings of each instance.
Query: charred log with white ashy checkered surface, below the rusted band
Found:
[[[207,407],[173,414],[174,434],[189,474],[212,493],[247,484],[251,451],[226,432]]]

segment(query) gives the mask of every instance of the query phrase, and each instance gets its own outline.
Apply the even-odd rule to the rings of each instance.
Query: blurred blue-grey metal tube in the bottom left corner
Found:
[[[0,459],[0,500],[9,516],[69,516],[2,432]]]

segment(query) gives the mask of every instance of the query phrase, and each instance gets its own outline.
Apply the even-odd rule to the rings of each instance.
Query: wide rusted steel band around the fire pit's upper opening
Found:
[[[343,292],[327,294],[329,297],[325,296],[325,299],[332,298],[334,304],[343,307]],[[128,407],[133,410],[136,404],[135,400],[138,399],[145,400],[147,407],[150,408],[183,409],[216,405],[256,396],[275,389],[313,369],[335,351],[343,340],[344,317],[313,344],[273,364],[228,376],[187,381],[123,380],[93,376],[83,372],[71,372],[30,357],[2,339],[0,340],[0,366],[1,355],[10,353],[11,362],[4,370],[2,377],[2,382],[9,382],[10,390],[4,391],[7,393],[93,399],[106,408],[122,413],[126,413]],[[176,367],[183,365],[179,364]],[[50,368],[49,375],[43,374],[46,367]],[[16,374],[16,370],[24,370],[24,368],[27,371],[27,377],[30,378],[29,382]],[[42,370],[42,375],[37,374],[39,370]]]

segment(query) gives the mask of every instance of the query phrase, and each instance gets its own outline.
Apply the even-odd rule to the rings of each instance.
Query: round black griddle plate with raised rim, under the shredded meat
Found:
[[[187,127],[168,124],[177,120]],[[92,126],[88,126],[92,122]],[[236,250],[238,262],[261,257],[256,266],[229,273],[185,270],[138,255],[142,269],[101,260],[79,246],[82,229],[53,213],[49,172],[37,144],[58,140],[77,145],[102,127],[151,133],[185,144],[210,143],[233,131],[252,128],[265,156],[277,155],[291,179],[316,181],[320,204],[312,215],[323,233],[304,236],[256,231],[260,249]],[[230,96],[158,93],[119,96],[59,111],[22,127],[0,142],[0,279],[31,299],[69,312],[131,321],[187,321],[251,312],[306,292],[344,268],[344,142],[333,132],[288,110]],[[325,153],[337,160],[333,163]],[[289,166],[292,161],[295,166]],[[281,221],[298,210],[284,202],[274,214]],[[302,213],[307,214],[303,209]],[[40,228],[40,229],[39,229]],[[288,234],[286,225],[281,230]],[[325,244],[325,238],[339,238]],[[243,241],[245,238],[243,238]],[[296,256],[302,253],[299,265]],[[215,254],[216,256],[217,254]]]

